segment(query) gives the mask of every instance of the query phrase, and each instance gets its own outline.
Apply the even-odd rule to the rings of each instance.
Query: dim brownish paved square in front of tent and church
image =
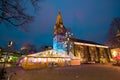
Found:
[[[7,72],[16,73],[12,80],[120,80],[120,67],[106,64],[81,64],[36,70],[11,67],[7,68]]]

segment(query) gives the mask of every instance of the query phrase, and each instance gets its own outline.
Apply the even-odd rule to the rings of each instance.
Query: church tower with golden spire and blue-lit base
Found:
[[[56,24],[53,31],[53,49],[57,51],[65,51],[66,28],[63,25],[62,16],[58,12]]]

